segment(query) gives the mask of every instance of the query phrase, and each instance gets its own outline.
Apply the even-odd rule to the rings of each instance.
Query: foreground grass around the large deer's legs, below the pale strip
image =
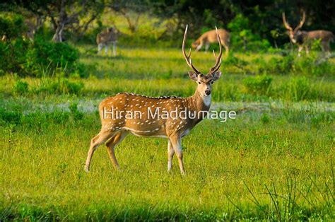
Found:
[[[334,120],[315,107],[237,110],[204,120],[183,139],[187,176],[177,160],[166,173],[165,139],[127,138],[116,172],[101,146],[83,163],[100,121],[94,112],[38,111],[9,103],[0,112],[1,220],[331,219]],[[11,109],[9,109],[11,108]],[[17,111],[18,117],[8,113]],[[334,119],[334,112],[325,112]],[[309,116],[302,119],[302,116]],[[307,164],[308,163],[308,164]]]

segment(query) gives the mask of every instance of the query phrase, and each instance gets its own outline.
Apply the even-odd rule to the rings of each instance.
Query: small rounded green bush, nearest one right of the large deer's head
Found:
[[[267,95],[270,90],[272,77],[270,76],[250,76],[243,79],[243,84],[249,93],[255,95]]]

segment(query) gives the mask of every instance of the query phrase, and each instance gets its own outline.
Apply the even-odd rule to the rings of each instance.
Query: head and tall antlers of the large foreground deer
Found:
[[[220,47],[220,51],[219,51],[218,57],[216,57],[216,54],[213,50],[214,57],[216,58],[216,63],[211,69],[209,69],[209,72],[204,75],[204,74],[201,74],[199,69],[196,69],[196,67],[192,64],[191,49],[189,49],[189,54],[186,54],[185,52],[185,41],[187,37],[187,28],[188,28],[188,25],[186,25],[185,33],[184,33],[184,40],[182,40],[182,54],[184,55],[187,65],[189,65],[189,67],[193,69],[193,71],[189,71],[189,78],[191,78],[193,81],[195,81],[198,84],[196,88],[196,92],[199,93],[199,95],[201,95],[202,97],[206,97],[208,95],[211,95],[213,82],[217,81],[218,78],[221,77],[221,71],[218,71],[218,69],[220,69],[220,66],[221,66],[221,56],[222,56],[222,46],[221,46],[220,35],[218,35],[218,29],[216,28],[216,36],[218,37],[218,45]]]

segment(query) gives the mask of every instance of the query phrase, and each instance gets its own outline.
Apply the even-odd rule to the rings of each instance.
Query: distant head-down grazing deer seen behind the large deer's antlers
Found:
[[[228,54],[230,47],[230,33],[224,29],[217,30],[218,35],[221,38],[221,45],[225,47],[225,54]],[[207,52],[211,43],[218,42],[216,38],[216,30],[208,31],[202,34],[195,42],[192,43],[192,47],[199,51],[203,45],[205,45],[205,51]]]

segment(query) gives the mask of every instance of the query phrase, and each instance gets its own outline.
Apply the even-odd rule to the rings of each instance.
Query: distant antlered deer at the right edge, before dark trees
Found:
[[[330,46],[329,42],[334,40],[334,35],[330,31],[327,30],[313,30],[313,31],[300,31],[302,25],[305,23],[306,14],[305,11],[302,14],[302,20],[299,25],[293,29],[288,25],[285,18],[285,13],[283,13],[283,23],[285,28],[288,30],[288,36],[290,37],[290,41],[293,44],[298,45],[298,57],[300,57],[300,52],[302,48],[305,47],[306,53],[310,52],[310,44],[313,40],[320,40],[321,48],[323,52],[328,52],[330,55]]]

